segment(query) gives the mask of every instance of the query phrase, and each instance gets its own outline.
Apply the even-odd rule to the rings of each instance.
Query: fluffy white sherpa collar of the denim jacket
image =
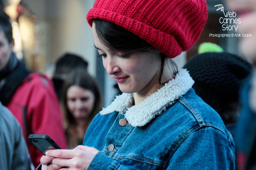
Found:
[[[125,118],[132,126],[144,126],[155,118],[155,115],[161,114],[163,110],[166,110],[166,107],[188,92],[193,84],[194,81],[188,71],[180,69],[174,79],[139,104],[132,106],[133,94],[123,93],[116,96],[116,99],[100,114],[106,115],[118,111],[125,114]]]

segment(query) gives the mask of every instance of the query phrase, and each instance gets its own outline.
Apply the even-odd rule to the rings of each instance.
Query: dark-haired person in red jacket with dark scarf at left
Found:
[[[29,142],[29,134],[46,134],[67,148],[62,114],[52,81],[31,73],[13,52],[9,17],[0,11],[0,101],[19,121],[32,162],[37,167],[42,154]]]

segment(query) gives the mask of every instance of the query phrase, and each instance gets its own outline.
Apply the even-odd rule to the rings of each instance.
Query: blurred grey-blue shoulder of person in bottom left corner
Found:
[[[33,170],[21,126],[0,102],[0,167],[2,170]]]

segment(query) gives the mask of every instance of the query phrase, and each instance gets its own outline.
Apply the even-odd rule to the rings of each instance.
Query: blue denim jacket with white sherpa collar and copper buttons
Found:
[[[117,96],[86,132],[83,145],[99,150],[87,169],[235,169],[233,138],[193,83],[181,69],[138,105]]]

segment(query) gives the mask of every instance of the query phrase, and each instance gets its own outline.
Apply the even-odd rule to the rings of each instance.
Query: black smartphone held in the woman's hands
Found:
[[[50,149],[61,149],[57,143],[55,143],[52,138],[48,135],[41,134],[31,134],[29,135],[29,141],[36,146],[42,154],[45,155],[45,152]]]

